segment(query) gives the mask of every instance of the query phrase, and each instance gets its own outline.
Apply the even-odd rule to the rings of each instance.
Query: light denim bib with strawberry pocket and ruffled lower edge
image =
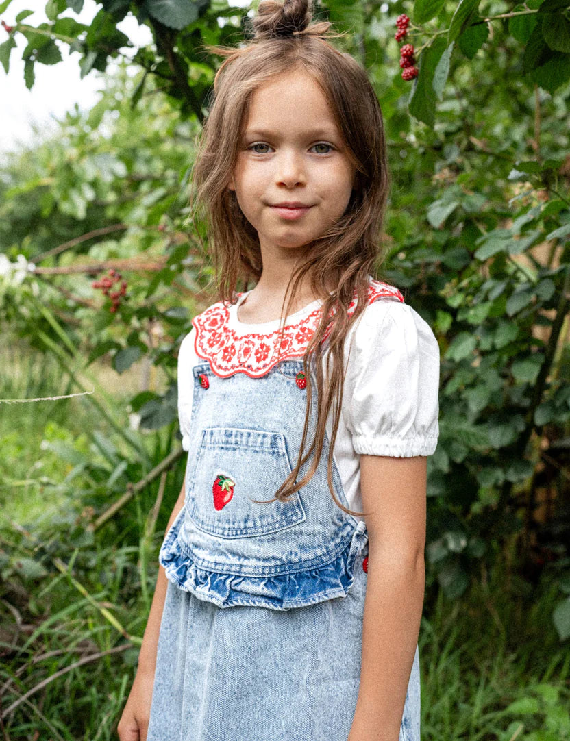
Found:
[[[295,465],[305,422],[306,392],[296,384],[302,370],[299,360],[260,378],[220,378],[207,362],[193,368],[185,505],[159,559],[171,582],[218,607],[288,610],[345,597],[367,545],[365,523],[342,511],[328,489],[328,438],[314,476],[288,501],[253,501],[273,499]],[[309,441],[316,407],[314,391]],[[307,470],[308,463],[299,479]],[[332,473],[348,507],[336,465]]]

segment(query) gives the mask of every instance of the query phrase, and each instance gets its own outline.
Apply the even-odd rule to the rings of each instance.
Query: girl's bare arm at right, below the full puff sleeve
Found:
[[[348,741],[398,741],[424,596],[426,458],[361,456],[368,577]]]

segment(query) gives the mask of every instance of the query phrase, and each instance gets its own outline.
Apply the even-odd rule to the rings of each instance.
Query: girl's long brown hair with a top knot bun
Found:
[[[257,280],[262,272],[256,230],[245,219],[235,193],[228,188],[248,120],[251,96],[260,84],[294,69],[310,74],[319,84],[349,156],[354,160],[357,185],[344,215],[311,243],[306,259],[294,270],[285,293],[282,316],[288,316],[299,284],[308,275],[314,296],[323,303],[319,325],[303,357],[307,410],[299,458],[291,475],[270,501],[285,501],[314,475],[325,444],[327,419],[332,413],[328,488],[343,511],[357,516],[363,513],[345,508],[334,493],[333,449],[344,388],[345,339],[351,325],[365,309],[368,276],[380,258],[380,228],[390,179],[377,96],[365,70],[353,57],[329,43],[329,38],[338,36],[331,33],[330,25],[326,21],[311,23],[309,0],[285,0],[284,4],[262,0],[253,20],[253,40],[239,48],[216,47],[216,53],[226,59],[216,73],[213,104],[193,167],[193,183],[196,201],[205,210],[211,227],[210,244],[219,297],[222,301],[235,302],[238,279],[251,276]],[[354,296],[357,308],[348,316],[348,306]],[[332,318],[331,311],[334,312]],[[329,325],[325,383],[322,340]],[[311,364],[319,403],[314,439],[308,445],[314,397],[309,372]],[[300,469],[311,456],[313,460],[308,471],[297,482]]]

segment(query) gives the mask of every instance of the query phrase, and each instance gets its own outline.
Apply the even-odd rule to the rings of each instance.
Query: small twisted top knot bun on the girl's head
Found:
[[[255,41],[292,36],[326,36],[331,26],[327,21],[311,24],[311,0],[262,0],[253,19]]]

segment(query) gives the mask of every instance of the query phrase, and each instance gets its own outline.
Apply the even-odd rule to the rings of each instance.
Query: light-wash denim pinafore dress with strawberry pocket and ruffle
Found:
[[[223,377],[222,365],[191,369],[185,505],[159,556],[169,584],[148,741],[346,741],[359,690],[365,522],[331,497],[328,439],[291,499],[253,502],[273,499],[296,462],[302,361],[259,377],[247,365]],[[348,507],[336,465],[333,484]],[[420,740],[419,668],[416,650],[400,741]]]

